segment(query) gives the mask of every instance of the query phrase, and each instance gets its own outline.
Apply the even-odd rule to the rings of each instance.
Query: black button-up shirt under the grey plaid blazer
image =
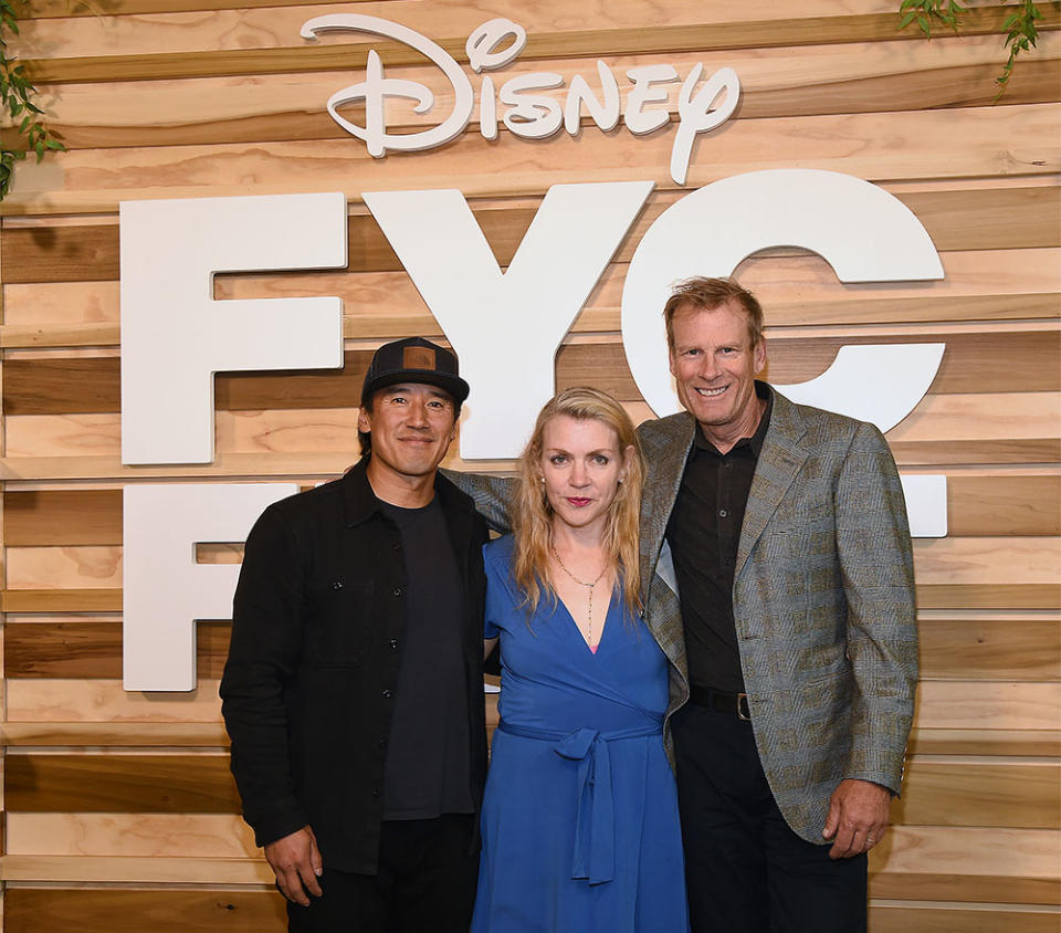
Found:
[[[682,602],[690,683],[731,693],[744,692],[733,621],[737,546],[774,408],[769,389],[760,382],[755,388],[766,400],[766,410],[755,434],[738,440],[727,453],[719,453],[697,426],[666,526]]]

